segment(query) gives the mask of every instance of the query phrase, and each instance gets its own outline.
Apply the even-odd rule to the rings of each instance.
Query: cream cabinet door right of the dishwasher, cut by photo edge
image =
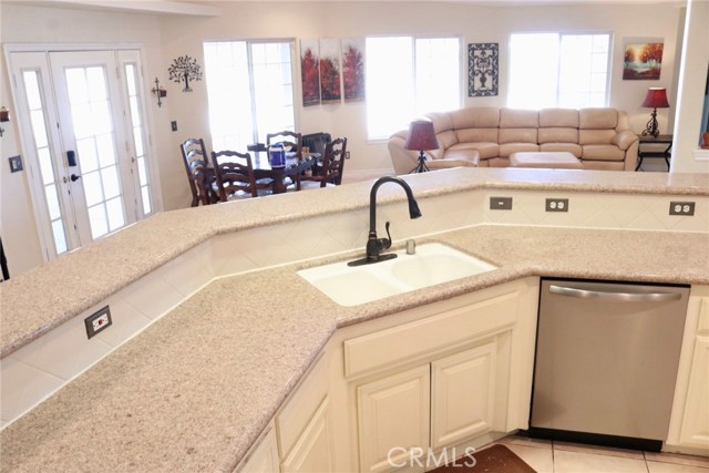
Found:
[[[709,300],[705,301],[709,307]],[[679,434],[682,445],[709,449],[709,336],[698,336]]]

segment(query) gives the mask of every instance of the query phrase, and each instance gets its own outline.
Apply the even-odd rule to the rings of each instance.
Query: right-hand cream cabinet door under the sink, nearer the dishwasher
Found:
[[[492,430],[497,339],[432,363],[433,449]]]

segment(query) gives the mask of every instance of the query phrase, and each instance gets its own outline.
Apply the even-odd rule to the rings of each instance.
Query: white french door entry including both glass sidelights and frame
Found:
[[[45,259],[153,212],[140,51],[10,54]]]

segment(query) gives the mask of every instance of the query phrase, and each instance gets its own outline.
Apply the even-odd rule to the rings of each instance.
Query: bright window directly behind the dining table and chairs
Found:
[[[206,42],[204,62],[215,150],[243,152],[295,131],[292,42]]]

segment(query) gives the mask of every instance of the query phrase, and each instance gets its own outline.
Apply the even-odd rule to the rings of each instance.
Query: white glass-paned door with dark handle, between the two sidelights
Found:
[[[115,54],[53,52],[50,63],[82,244],[135,222]]]

